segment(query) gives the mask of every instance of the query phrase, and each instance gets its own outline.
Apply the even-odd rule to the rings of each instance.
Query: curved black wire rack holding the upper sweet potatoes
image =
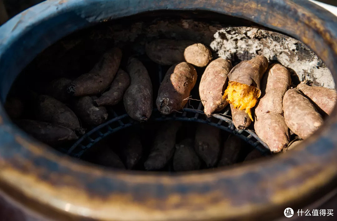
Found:
[[[160,84],[163,77],[162,66],[158,65],[157,70]],[[270,154],[268,145],[264,143],[253,130],[240,130],[234,126],[232,119],[228,118],[228,114],[230,112],[229,105],[227,105],[227,107],[223,110],[222,114],[214,114],[210,118],[206,118],[206,115],[202,110],[202,102],[199,101],[197,105],[198,107],[195,109],[192,105],[190,105],[190,102],[187,102],[181,112],[175,112],[170,115],[162,115],[157,108],[154,108],[149,121],[185,121],[209,124],[239,136],[241,139],[246,141],[246,143],[259,150],[263,155]],[[140,123],[130,118],[125,111],[122,114],[117,114],[114,110],[110,110],[110,113],[113,117],[111,120],[91,129],[88,133],[84,134],[80,139],[78,139],[68,150],[61,151],[72,157],[81,158],[81,156],[88,149],[90,149],[94,144],[98,143],[103,138],[116,133],[119,130],[126,129],[130,126]]]

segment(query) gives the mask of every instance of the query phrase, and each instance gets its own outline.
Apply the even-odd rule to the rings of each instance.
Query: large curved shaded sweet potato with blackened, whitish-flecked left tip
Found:
[[[122,51],[113,48],[104,53],[100,61],[86,74],[76,78],[67,91],[74,96],[95,95],[109,87],[119,68]]]

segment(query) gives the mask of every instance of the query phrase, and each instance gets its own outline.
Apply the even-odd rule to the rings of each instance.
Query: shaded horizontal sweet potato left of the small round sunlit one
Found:
[[[189,40],[159,39],[145,45],[147,56],[157,64],[173,65],[185,61],[184,51],[194,42]]]

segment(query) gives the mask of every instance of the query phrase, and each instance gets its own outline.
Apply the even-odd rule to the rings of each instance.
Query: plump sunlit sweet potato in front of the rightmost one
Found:
[[[285,92],[283,112],[287,126],[302,139],[308,138],[323,124],[315,106],[297,89]]]

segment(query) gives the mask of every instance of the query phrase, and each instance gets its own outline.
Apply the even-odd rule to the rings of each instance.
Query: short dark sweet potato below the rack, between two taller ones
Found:
[[[198,155],[193,148],[193,140],[187,138],[176,144],[173,156],[173,169],[175,171],[188,171],[199,169],[201,165]]]

